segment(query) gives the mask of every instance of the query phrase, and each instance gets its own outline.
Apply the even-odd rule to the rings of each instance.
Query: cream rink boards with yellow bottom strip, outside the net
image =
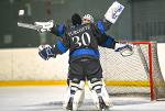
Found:
[[[160,43],[157,48],[165,78],[165,44]],[[68,52],[56,59],[43,60],[37,54],[37,48],[0,49],[0,86],[66,85],[67,63]]]

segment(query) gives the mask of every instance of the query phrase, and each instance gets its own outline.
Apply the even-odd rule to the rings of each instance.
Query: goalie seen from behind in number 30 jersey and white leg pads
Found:
[[[67,110],[78,109],[86,80],[97,108],[108,109],[112,103],[102,80],[98,46],[120,51],[128,45],[118,44],[109,37],[105,33],[105,22],[97,22],[97,25],[88,22],[81,23],[81,18],[78,14],[72,16],[72,26],[55,25],[51,27],[50,32],[64,37],[57,40],[54,47],[41,45],[38,54],[47,60],[50,57],[56,57],[56,55],[69,49],[69,95],[65,102]],[[107,27],[109,29],[109,25]],[[44,32],[45,29],[41,29],[41,31]]]

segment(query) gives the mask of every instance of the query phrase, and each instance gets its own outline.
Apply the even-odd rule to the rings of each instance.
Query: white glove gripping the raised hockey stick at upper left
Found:
[[[35,22],[34,24],[41,26],[41,29],[37,30],[41,33],[51,32],[52,27],[54,26],[54,21],[51,20],[48,22]]]

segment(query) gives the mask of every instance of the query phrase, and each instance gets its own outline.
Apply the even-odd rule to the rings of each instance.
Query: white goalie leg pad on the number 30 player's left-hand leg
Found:
[[[78,107],[82,103],[85,97],[84,88],[84,80],[70,80],[66,100],[63,107],[67,110],[76,111]]]

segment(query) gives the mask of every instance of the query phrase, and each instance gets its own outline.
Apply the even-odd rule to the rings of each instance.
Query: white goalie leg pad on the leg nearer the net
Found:
[[[98,109],[108,109],[112,107],[112,102],[106,89],[102,79],[94,78],[88,80],[88,86],[91,92],[95,104]]]

